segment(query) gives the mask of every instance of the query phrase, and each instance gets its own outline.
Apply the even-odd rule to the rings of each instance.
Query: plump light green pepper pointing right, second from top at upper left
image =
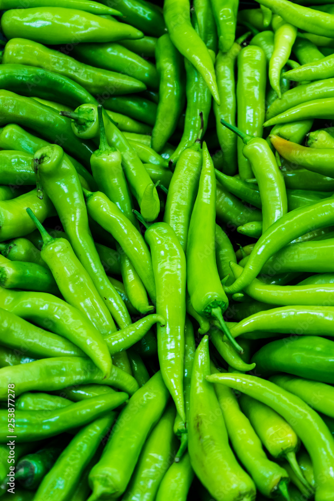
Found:
[[[111,17],[105,19],[58,6],[11,9],[2,17],[1,27],[8,40],[20,35],[47,45],[70,44],[76,37],[81,42],[116,42],[143,37],[139,30]]]

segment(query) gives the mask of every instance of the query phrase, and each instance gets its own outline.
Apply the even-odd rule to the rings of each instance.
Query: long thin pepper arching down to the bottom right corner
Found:
[[[315,479],[319,480],[316,501],[329,501],[333,491],[334,439],[319,415],[300,398],[258,377],[241,374],[213,374],[207,380],[226,384],[270,406],[298,432],[314,465]]]

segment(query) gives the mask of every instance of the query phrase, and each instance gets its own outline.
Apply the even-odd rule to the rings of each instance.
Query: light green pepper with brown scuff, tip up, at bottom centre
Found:
[[[255,498],[255,485],[240,467],[228,444],[227,431],[210,374],[209,341],[204,336],[191,375],[188,450],[191,465],[217,501]],[[210,419],[214,415],[214,419]]]

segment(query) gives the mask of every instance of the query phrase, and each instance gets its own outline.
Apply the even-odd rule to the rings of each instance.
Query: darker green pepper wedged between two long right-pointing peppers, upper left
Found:
[[[80,43],[73,48],[72,54],[82,63],[125,73],[151,88],[158,88],[159,77],[155,66],[117,43]]]

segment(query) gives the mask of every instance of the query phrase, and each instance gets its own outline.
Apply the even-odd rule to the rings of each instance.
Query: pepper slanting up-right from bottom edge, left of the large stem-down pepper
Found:
[[[75,435],[44,477],[35,494],[36,501],[65,501],[73,493],[116,415],[116,412],[109,412],[86,425]]]

